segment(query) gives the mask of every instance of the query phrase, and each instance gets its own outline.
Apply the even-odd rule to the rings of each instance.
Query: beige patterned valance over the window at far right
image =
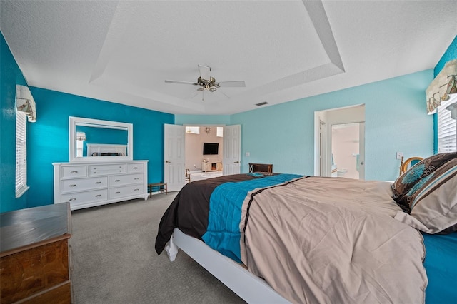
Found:
[[[447,101],[457,93],[457,59],[446,62],[441,72],[433,79],[426,90],[427,113],[436,113],[441,101]]]

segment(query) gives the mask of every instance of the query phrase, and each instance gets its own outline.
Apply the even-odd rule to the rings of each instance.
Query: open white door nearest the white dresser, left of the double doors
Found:
[[[164,180],[168,191],[180,191],[186,184],[186,127],[164,127]]]

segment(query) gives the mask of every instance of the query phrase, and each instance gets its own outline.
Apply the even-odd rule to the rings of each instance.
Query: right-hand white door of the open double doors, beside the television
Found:
[[[240,173],[241,125],[224,126],[223,174]]]

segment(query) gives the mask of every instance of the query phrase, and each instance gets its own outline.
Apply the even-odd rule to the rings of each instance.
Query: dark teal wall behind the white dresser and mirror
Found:
[[[69,161],[69,116],[134,125],[134,160],[148,160],[148,181],[164,180],[164,123],[174,115],[67,93],[31,88],[36,123],[29,125],[28,207],[54,202],[52,163]]]

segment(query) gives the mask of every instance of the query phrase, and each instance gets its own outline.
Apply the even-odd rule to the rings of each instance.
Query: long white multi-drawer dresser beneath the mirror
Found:
[[[148,198],[148,161],[71,162],[54,165],[54,203],[71,210]]]

